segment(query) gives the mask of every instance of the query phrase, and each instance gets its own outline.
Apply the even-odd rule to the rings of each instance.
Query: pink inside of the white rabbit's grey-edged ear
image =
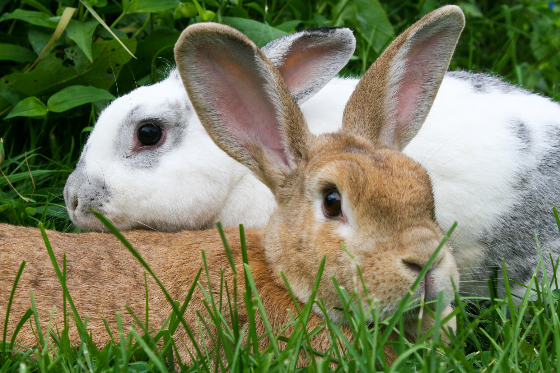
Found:
[[[278,70],[282,74],[292,96],[309,87],[315,78],[323,73],[325,64],[330,62],[331,48],[309,48],[309,43],[297,41],[291,46],[288,56]]]

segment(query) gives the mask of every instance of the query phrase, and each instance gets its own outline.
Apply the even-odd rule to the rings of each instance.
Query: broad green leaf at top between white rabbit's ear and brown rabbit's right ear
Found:
[[[377,53],[394,39],[395,30],[379,0],[354,0],[359,31]]]

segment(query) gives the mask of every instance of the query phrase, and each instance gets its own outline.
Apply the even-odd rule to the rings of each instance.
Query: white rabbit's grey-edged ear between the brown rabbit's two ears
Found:
[[[354,49],[356,38],[350,29],[324,27],[283,36],[262,50],[301,105],[348,63]]]

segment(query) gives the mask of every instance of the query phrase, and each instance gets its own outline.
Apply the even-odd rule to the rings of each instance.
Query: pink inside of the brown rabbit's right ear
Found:
[[[406,136],[408,130],[415,131],[421,125],[431,106],[430,88],[433,81],[441,74],[442,50],[438,44],[444,43],[444,38],[437,35],[430,40],[415,43],[405,56],[402,67],[404,73],[398,81],[393,99],[396,102],[393,111],[394,136]]]

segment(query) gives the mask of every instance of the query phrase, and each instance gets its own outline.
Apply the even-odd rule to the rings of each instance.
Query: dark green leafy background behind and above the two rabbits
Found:
[[[164,78],[173,62],[172,45],[180,31],[203,20],[234,25],[259,45],[302,28],[350,27],[357,38],[356,54],[341,74],[360,75],[395,35],[445,4],[436,0],[200,0],[196,4],[194,0],[88,0],[137,56],[132,59],[104,27],[95,26],[85,2],[79,1],[0,0],[0,136],[4,139],[0,167],[15,188],[0,175],[0,221],[23,225],[43,221],[52,229],[74,230],[64,210],[64,182],[99,110],[108,102],[98,100],[46,114],[39,108],[42,111],[26,114],[33,116],[6,119],[26,97],[36,97],[44,105],[68,86],[94,86],[118,96],[156,82]],[[465,11],[466,28],[451,69],[497,73],[507,81],[560,99],[560,5],[556,1],[456,4]],[[58,20],[48,17],[60,16],[67,6],[77,8],[72,21],[74,34],[88,25],[95,27],[94,35],[88,34],[94,41],[92,53],[100,57],[90,64],[94,71],[84,74],[80,70],[89,63],[81,49],[85,49],[84,44],[91,46],[91,40],[82,36],[78,45],[78,38],[74,35],[72,39],[65,31],[43,60],[23,74],[53,34]],[[43,18],[30,23],[29,19],[10,17],[17,12]],[[48,22],[50,26],[44,26]],[[20,48],[19,54],[2,53],[6,45]],[[114,47],[109,59],[99,54],[106,45]]]

